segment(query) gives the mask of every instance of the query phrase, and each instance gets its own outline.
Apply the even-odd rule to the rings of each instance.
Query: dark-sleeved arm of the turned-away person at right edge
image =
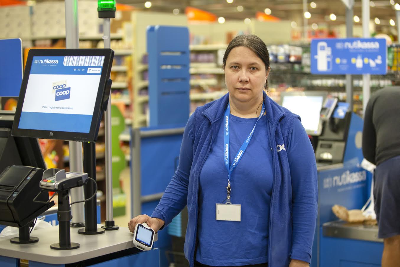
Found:
[[[376,132],[372,122],[372,109],[374,107],[375,97],[370,98],[364,111],[364,128],[362,129],[362,154],[364,158],[376,165]]]

